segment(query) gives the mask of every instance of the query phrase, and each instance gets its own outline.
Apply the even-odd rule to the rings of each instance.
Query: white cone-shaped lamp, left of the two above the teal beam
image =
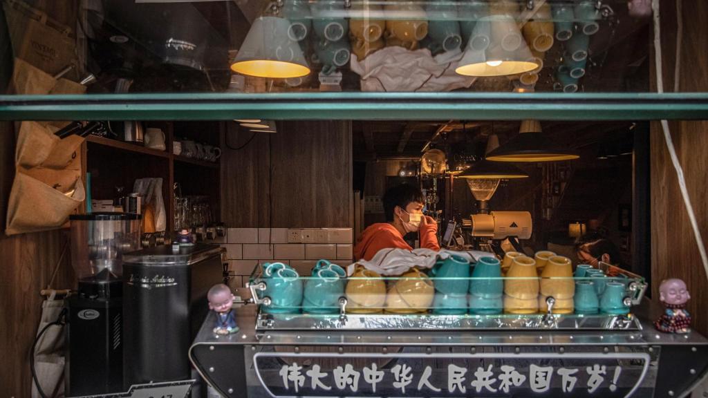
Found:
[[[281,79],[309,74],[302,49],[287,35],[289,28],[290,21],[285,18],[256,18],[231,65],[232,71]]]

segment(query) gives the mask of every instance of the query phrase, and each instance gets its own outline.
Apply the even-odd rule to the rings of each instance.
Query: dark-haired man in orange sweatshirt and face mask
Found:
[[[436,236],[438,223],[433,217],[423,215],[421,190],[406,184],[395,186],[386,191],[383,202],[387,222],[364,229],[354,246],[357,260],[370,260],[381,249],[413,250],[403,239],[410,232],[420,234],[421,247],[440,250]]]

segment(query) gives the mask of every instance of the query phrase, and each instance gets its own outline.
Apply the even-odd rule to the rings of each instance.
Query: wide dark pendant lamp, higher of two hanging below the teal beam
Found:
[[[490,161],[561,161],[578,159],[572,149],[547,140],[538,120],[523,120],[519,134],[487,154]]]

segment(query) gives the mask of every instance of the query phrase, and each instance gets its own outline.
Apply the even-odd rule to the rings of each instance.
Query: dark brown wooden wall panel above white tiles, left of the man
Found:
[[[229,123],[230,147],[250,139]],[[258,133],[241,149],[222,147],[229,227],[353,227],[350,122],[279,122],[277,133]]]

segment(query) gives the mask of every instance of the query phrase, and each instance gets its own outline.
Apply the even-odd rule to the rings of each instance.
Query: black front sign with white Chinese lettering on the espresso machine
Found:
[[[646,353],[261,352],[254,363],[273,397],[610,398],[653,387],[642,383]]]

